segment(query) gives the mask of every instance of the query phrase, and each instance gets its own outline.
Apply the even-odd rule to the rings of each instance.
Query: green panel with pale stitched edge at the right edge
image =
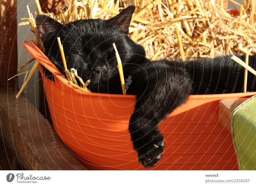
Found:
[[[241,169],[256,170],[256,97],[234,112],[233,141]]]

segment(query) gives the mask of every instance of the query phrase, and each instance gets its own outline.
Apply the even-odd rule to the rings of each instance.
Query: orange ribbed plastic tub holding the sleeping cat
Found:
[[[32,42],[24,47],[53,74],[60,74]],[[41,70],[44,77],[44,73]],[[91,170],[237,170],[231,134],[218,123],[219,101],[252,93],[195,95],[159,125],[165,151],[159,163],[142,167],[128,131],[136,97],[83,92],[55,75],[44,91],[57,134]]]

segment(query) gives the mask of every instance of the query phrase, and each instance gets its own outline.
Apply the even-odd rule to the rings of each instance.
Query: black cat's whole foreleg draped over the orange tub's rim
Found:
[[[124,72],[127,94],[137,96],[129,131],[141,165],[152,167],[161,159],[164,136],[157,125],[186,102],[191,80],[182,68],[154,62]]]

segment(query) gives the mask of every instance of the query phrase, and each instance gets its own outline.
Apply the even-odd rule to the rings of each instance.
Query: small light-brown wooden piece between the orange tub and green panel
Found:
[[[223,99],[220,101],[220,108],[219,108],[219,122],[231,131],[231,116],[232,112],[236,109],[237,106],[242,104],[248,98],[236,98],[236,99]]]

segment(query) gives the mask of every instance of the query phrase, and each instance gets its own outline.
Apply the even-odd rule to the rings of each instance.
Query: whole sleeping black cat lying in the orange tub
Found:
[[[86,19],[62,25],[39,15],[36,26],[46,56],[64,74],[57,37],[60,37],[68,69],[77,69],[84,81],[91,80],[92,92],[122,94],[113,43],[123,64],[124,79],[132,77],[127,94],[137,96],[129,131],[140,163],[152,167],[161,159],[164,137],[157,125],[190,94],[234,93],[243,91],[244,69],[230,59],[202,58],[194,61],[150,61],[143,47],[128,36],[134,6],[108,20]],[[241,56],[242,60],[244,57]],[[255,69],[255,56],[249,65]],[[47,73],[47,71],[46,71]],[[50,74],[48,74],[50,75]],[[256,76],[248,73],[248,91],[255,91]],[[168,97],[168,99],[167,99]],[[151,149],[150,153],[146,153]]]

